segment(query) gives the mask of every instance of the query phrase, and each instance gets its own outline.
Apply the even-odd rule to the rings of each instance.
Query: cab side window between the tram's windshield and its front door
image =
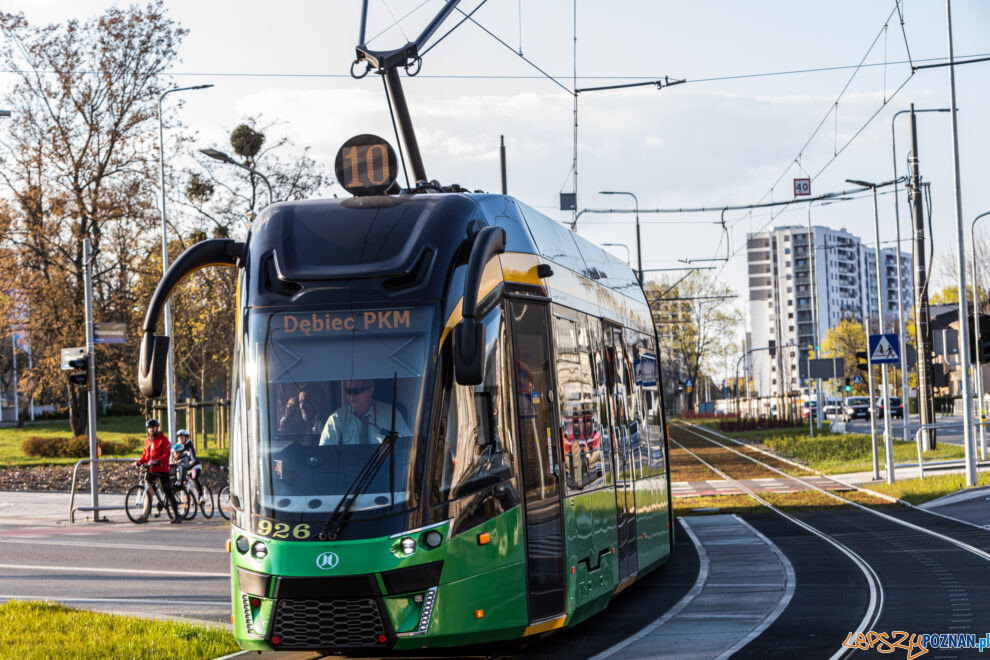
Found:
[[[485,380],[458,385],[451,378],[447,409],[441,419],[442,446],[434,465],[434,499],[454,500],[500,484],[515,475],[512,417],[505,379],[511,375],[505,354],[505,322],[496,307],[485,317]]]

